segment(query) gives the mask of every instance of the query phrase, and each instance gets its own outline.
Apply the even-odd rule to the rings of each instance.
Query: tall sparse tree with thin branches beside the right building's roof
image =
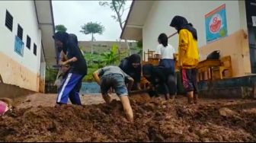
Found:
[[[115,12],[115,15],[111,15],[111,17],[114,18],[114,20],[117,20],[119,22],[121,30],[123,30],[123,23],[125,21],[122,21],[123,11],[126,10],[124,7],[126,4],[126,0],[112,0],[111,2],[99,2],[99,5],[101,6],[109,6],[112,11]],[[130,46],[127,43],[127,40],[125,40],[126,46],[129,50],[130,55]]]

